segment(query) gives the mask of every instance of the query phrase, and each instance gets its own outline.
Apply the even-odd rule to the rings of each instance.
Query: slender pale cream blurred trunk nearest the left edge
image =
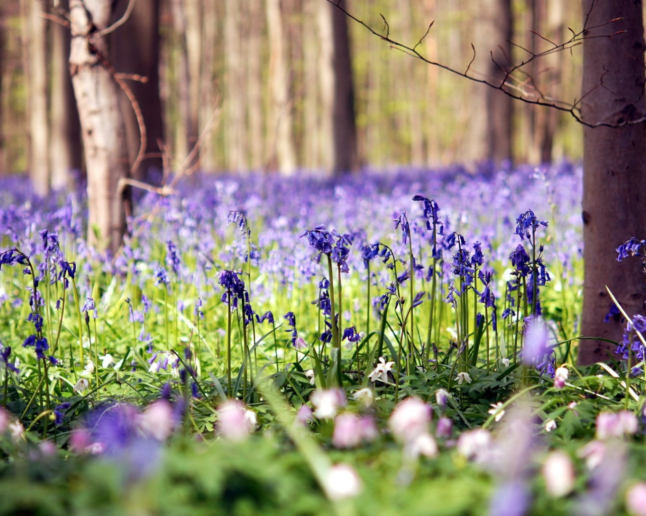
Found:
[[[50,190],[49,135],[47,117],[47,25],[44,4],[30,0],[27,11],[29,177],[34,191],[47,195]]]

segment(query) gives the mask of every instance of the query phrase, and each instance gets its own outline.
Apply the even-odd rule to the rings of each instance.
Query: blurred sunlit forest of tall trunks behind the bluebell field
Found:
[[[390,37],[410,46],[434,20],[421,54],[464,71],[474,45],[470,73],[483,78],[501,73],[492,55],[504,68],[581,27],[581,6],[569,0],[343,5],[385,32],[383,15]],[[68,184],[69,171],[83,165],[70,30],[61,23],[68,3],[0,6],[0,174],[26,172],[45,193]],[[127,21],[108,36],[110,63],[119,74],[148,78],[123,76],[146,121],[144,171],[161,165],[161,142],[172,163],[181,163],[209,120],[195,164],[214,172],[334,174],[582,154],[581,128],[567,113],[508,99],[391,49],[325,0],[116,0],[114,19],[129,6]],[[528,97],[536,90],[574,102],[580,48],[532,61],[515,75],[515,87]],[[121,100],[132,163],[140,137],[125,95]]]

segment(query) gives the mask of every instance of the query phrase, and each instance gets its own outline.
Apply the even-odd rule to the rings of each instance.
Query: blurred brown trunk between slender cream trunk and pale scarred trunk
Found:
[[[68,10],[67,0],[61,2],[61,8]],[[79,114],[68,66],[70,31],[57,23],[50,23],[49,30],[52,41],[49,159],[51,185],[54,190],[59,190],[72,186],[70,173],[81,168],[83,150]]]

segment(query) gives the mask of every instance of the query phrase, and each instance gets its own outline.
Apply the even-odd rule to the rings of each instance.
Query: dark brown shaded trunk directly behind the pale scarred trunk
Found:
[[[112,21],[120,19],[127,8],[127,0],[116,3]],[[159,10],[160,0],[136,0],[127,21],[110,35],[110,56],[114,68],[121,74],[136,74],[146,81],[127,80],[141,108],[146,129],[146,157],[134,171],[136,179],[146,179],[149,168],[161,170],[158,141],[163,141],[159,76]],[[132,104],[120,92],[120,108],[125,123],[130,163],[134,163],[141,146],[140,128]],[[154,154],[157,154],[156,156]]]

